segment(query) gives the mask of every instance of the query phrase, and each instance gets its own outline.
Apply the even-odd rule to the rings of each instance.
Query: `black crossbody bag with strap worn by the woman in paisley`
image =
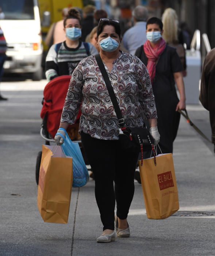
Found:
[[[154,158],[156,156],[154,149],[154,139],[152,138],[149,130],[147,128],[139,127],[126,127],[124,123],[124,118],[122,112],[119,108],[119,104],[114,93],[114,89],[111,85],[110,79],[108,77],[107,71],[104,67],[103,61],[101,60],[100,54],[96,54],[96,61],[100,68],[101,74],[104,78],[108,93],[110,95],[116,116],[118,118],[119,129],[119,141],[121,149],[123,151],[138,151],[141,152],[141,165],[143,164],[143,151],[153,152]],[[155,159],[156,161],[156,159]]]

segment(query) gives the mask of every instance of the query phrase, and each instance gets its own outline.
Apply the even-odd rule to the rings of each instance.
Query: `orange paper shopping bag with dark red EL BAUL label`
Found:
[[[165,219],[179,210],[178,189],[172,154],[139,161],[141,183],[149,219]]]

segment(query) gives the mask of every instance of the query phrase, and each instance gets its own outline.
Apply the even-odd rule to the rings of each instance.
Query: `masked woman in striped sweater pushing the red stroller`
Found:
[[[64,19],[66,40],[54,44],[46,57],[46,78],[48,81],[61,75],[72,75],[78,63],[85,57],[96,54],[96,48],[83,43],[81,37],[81,16],[72,8]]]

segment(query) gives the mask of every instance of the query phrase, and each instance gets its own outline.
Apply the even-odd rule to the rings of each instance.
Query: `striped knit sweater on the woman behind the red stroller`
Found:
[[[88,56],[83,42],[77,48],[69,48],[62,42],[59,50],[52,45],[46,57],[46,78],[48,81],[61,75],[72,75],[78,63]],[[89,44],[89,54],[97,54],[96,48]]]

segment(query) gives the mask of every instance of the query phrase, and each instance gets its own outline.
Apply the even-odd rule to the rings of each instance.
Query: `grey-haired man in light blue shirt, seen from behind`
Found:
[[[123,35],[123,46],[131,54],[134,54],[137,48],[146,42],[147,8],[142,5],[135,7],[133,18],[134,27],[128,29]]]

